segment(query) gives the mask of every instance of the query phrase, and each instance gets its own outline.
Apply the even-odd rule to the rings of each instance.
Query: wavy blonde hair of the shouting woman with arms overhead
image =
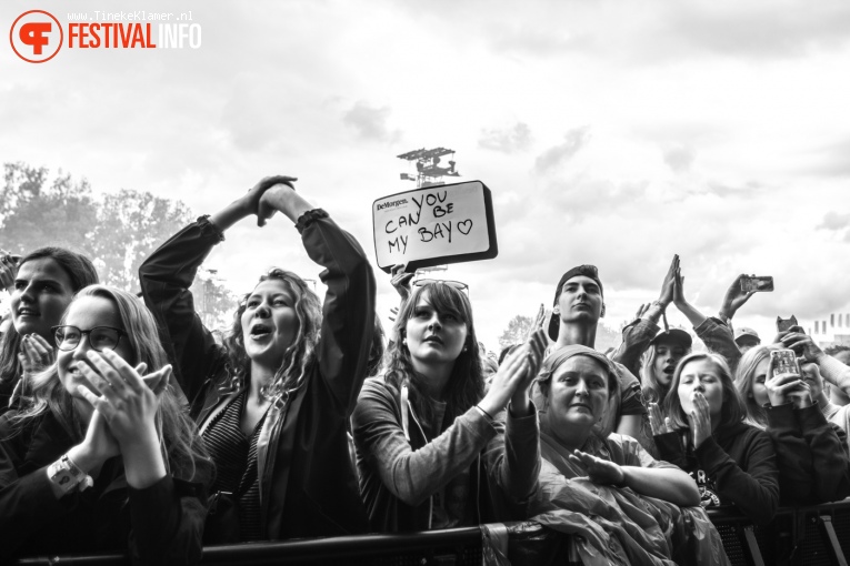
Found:
[[[283,360],[274,372],[274,377],[260,391],[264,398],[278,401],[303,384],[316,361],[322,307],[319,297],[308,287],[307,282],[292,272],[272,267],[260,277],[258,285],[263,281],[280,281],[283,284],[294,299],[293,310],[298,317],[298,334],[283,352]],[[231,380],[222,387],[226,392],[247,386],[251,378],[251,358],[244,348],[242,330],[242,314],[248,306],[249,296],[250,293],[246,294],[239,302],[239,307],[233,314],[233,325],[224,338],[231,370]]]

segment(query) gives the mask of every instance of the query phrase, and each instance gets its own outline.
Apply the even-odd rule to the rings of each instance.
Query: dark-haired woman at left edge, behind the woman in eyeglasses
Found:
[[[26,381],[54,360],[50,329],[73,294],[98,282],[88,257],[63,247],[39,247],[23,257],[0,254],[0,279],[10,285],[12,324],[0,341],[0,414],[26,393]],[[17,392],[17,393],[16,393]]]

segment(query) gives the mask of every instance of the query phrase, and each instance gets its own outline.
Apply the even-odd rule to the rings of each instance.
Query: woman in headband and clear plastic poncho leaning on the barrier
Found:
[[[538,384],[543,459],[533,520],[578,535],[582,564],[727,564],[688,474],[631,436],[600,434],[619,386],[604,355],[581,345],[558,348],[543,361]]]

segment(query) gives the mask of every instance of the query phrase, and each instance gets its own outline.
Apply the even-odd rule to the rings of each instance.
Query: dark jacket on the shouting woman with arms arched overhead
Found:
[[[324,267],[317,363],[289,403],[273,405],[258,442],[262,536],[268,539],[339,536],[367,530],[348,445],[348,418],[366,377],[374,324],[374,276],[357,241],[324,211],[298,221],[304,249]],[[178,381],[203,427],[224,406],[227,352],[194,312],[189,286],[223,235],[199,219],[153,252],[139,270]]]

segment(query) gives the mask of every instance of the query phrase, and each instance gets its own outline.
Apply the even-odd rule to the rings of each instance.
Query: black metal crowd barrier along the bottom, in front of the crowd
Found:
[[[781,508],[770,525],[754,526],[734,509],[711,509],[709,516],[733,566],[847,566],[850,553],[850,499],[817,507]],[[577,564],[569,537],[537,523],[507,524],[507,558],[519,565]],[[502,527],[500,532],[506,532]],[[309,538],[247,543],[204,548],[201,564],[340,566],[480,566],[491,564],[491,528],[468,527],[397,535]],[[490,553],[490,554],[488,554]],[[498,554],[498,553],[497,553]],[[19,565],[126,566],[123,555],[42,556]]]

